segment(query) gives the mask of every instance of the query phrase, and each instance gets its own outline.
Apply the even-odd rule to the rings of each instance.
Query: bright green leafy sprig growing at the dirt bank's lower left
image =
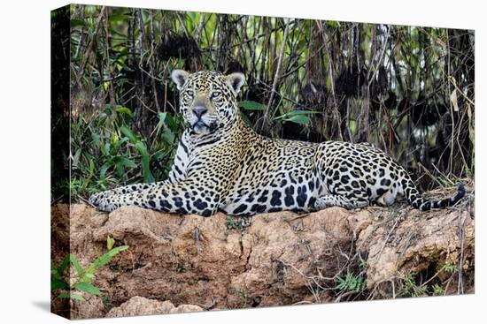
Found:
[[[95,270],[104,267],[104,265],[110,262],[115,255],[128,249],[128,245],[113,247],[114,243],[115,241],[112,237],[107,237],[106,246],[108,252],[99,256],[86,269],[81,267],[80,262],[73,254],[68,254],[59,267],[56,267],[56,265],[51,262],[50,290],[61,290],[58,294],[58,298],[70,298],[79,301],[85,300],[81,296],[81,292],[83,291],[90,295],[101,296],[100,290],[91,283],[95,278]],[[74,279],[70,278],[69,273],[66,273],[66,269],[69,269],[69,264],[72,264],[76,270]]]

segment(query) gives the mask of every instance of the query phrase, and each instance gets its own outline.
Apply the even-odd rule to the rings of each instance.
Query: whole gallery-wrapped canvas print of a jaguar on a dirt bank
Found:
[[[474,293],[474,31],[325,18],[51,12],[53,313]]]

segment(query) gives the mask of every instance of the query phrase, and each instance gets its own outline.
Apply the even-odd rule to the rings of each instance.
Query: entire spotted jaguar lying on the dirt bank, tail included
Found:
[[[400,196],[429,210],[452,206],[465,195],[459,185],[453,198],[425,200],[406,170],[369,143],[308,143],[253,132],[237,108],[241,73],[175,70],[172,78],[187,128],[169,177],[97,193],[90,202],[99,210],[132,205],[204,216],[218,210],[255,215],[389,206]]]

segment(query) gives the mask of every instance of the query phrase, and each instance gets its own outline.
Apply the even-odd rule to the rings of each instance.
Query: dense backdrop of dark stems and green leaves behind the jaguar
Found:
[[[473,177],[473,31],[81,5],[69,14],[73,197],[166,177],[183,129],[174,68],[243,72],[241,110],[257,132],[373,142],[423,189]]]

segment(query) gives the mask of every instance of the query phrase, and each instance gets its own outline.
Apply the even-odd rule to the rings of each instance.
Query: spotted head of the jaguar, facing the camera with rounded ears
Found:
[[[180,91],[180,110],[192,132],[209,134],[236,122],[236,95],[245,82],[242,73],[174,70],[171,78]]]

